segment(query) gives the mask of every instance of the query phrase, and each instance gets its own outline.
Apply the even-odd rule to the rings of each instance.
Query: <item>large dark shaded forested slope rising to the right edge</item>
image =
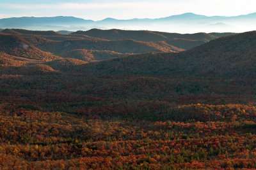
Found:
[[[83,66],[99,74],[256,76],[256,31],[227,36],[180,53],[146,53]]]

